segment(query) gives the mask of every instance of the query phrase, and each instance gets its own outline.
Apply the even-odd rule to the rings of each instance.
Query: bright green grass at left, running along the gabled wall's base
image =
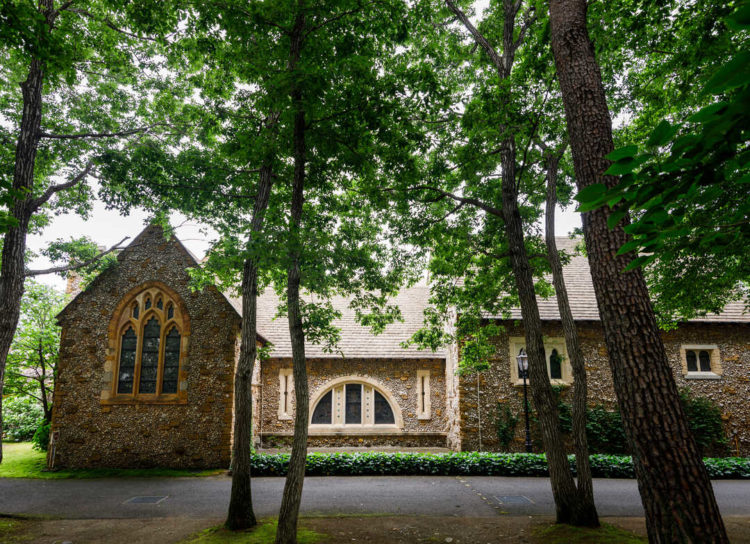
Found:
[[[3,442],[3,462],[0,478],[41,478],[55,480],[63,478],[107,478],[112,476],[214,476],[225,472],[214,470],[177,470],[164,468],[119,469],[97,468],[80,470],[48,471],[46,453],[32,449],[31,442]]]

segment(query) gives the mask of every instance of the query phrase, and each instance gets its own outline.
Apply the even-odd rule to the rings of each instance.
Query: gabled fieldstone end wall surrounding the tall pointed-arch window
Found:
[[[55,467],[229,466],[240,318],[216,289],[190,291],[186,269],[195,265],[176,239],[149,226],[60,314]],[[119,403],[106,394],[117,358],[108,328],[123,297],[149,284],[176,293],[190,320],[181,402]]]

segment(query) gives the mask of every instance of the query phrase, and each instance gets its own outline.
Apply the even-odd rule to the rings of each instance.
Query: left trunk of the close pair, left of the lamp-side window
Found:
[[[502,197],[505,232],[508,237],[511,268],[516,280],[518,297],[521,302],[521,317],[526,336],[526,352],[529,357],[529,386],[534,401],[542,440],[547,453],[550,483],[555,499],[557,523],[578,524],[577,492],[570,463],[563,449],[557,405],[547,374],[544,355],[542,320],[534,292],[534,278],[529,257],[523,241],[523,223],[518,210],[516,194],[515,142],[503,142],[502,152]]]

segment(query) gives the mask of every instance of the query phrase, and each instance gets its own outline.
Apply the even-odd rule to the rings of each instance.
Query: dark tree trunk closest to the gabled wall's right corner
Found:
[[[271,195],[270,165],[260,169],[258,192],[253,206],[250,240],[255,253],[257,235],[263,229],[263,217]],[[234,373],[234,442],[232,445],[232,494],[229,499],[227,528],[237,531],[257,523],[253,512],[250,486],[250,449],[253,424],[253,367],[257,355],[258,262],[255,257],[245,261],[242,272],[242,343],[240,359]]]

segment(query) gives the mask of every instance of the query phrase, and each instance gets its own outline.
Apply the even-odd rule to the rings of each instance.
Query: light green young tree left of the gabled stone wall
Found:
[[[60,327],[55,316],[65,303],[65,295],[54,288],[27,282],[5,371],[6,391],[35,399],[47,419],[52,413],[52,388],[60,350]]]

